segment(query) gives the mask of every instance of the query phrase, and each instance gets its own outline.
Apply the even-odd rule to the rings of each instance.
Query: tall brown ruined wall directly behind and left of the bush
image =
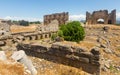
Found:
[[[68,21],[68,18],[69,18],[68,12],[45,15],[44,24],[47,25],[53,20],[58,20],[59,25],[61,25],[65,24],[65,22]]]

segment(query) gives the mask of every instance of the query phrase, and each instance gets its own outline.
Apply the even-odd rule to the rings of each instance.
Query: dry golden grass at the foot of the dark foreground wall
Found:
[[[29,58],[33,63],[36,63],[35,66],[37,67],[38,75],[89,75],[81,68],[54,63],[37,57]]]

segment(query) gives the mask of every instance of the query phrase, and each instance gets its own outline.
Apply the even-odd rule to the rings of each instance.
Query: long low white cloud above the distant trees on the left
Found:
[[[42,21],[42,19],[40,18],[28,18],[28,17],[11,17],[11,16],[6,16],[5,18],[3,18],[5,20],[26,20],[26,21]]]

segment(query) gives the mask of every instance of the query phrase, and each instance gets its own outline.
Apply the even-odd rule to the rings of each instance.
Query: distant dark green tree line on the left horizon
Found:
[[[25,21],[25,20],[19,20],[19,21],[8,20],[6,23],[8,23],[10,25],[16,24],[16,25],[21,25],[21,26],[29,26],[30,24],[41,24],[40,21],[29,22],[29,21]]]

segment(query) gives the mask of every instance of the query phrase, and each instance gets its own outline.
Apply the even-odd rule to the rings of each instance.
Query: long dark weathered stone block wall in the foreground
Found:
[[[82,68],[88,73],[100,75],[100,52],[98,47],[86,51],[81,47],[56,42],[52,46],[19,44],[17,48],[26,51],[28,55]]]

